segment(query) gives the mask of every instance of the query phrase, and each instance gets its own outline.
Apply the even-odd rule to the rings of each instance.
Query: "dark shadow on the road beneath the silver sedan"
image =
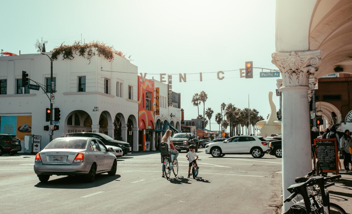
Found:
[[[52,176],[50,176],[52,177]],[[99,187],[112,181],[118,181],[120,175],[109,176],[107,174],[96,175],[92,183],[86,183],[82,176],[66,176],[59,179],[49,180],[48,182],[39,182],[34,187],[52,188],[52,189],[88,189]]]

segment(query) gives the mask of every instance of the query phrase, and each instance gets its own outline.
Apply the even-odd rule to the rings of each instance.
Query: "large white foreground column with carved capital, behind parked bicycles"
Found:
[[[294,179],[312,170],[308,95],[313,83],[309,78],[318,71],[321,55],[322,50],[272,54],[272,63],[282,74],[282,86],[281,81],[277,86],[282,92],[283,199],[290,195],[287,188],[295,183]],[[290,205],[284,203],[282,212]]]

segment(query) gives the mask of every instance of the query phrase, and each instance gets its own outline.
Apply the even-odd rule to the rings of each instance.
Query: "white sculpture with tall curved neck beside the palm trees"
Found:
[[[266,137],[271,136],[271,134],[281,134],[281,121],[277,119],[276,106],[272,102],[272,92],[269,92],[269,104],[270,104],[270,114],[268,119],[257,122],[257,127],[260,130],[257,132],[258,136]]]

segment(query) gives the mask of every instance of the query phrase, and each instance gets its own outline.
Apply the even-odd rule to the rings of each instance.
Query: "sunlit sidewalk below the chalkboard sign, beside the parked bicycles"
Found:
[[[343,168],[342,164],[342,168]],[[352,171],[348,173],[344,171],[339,172],[341,178],[334,180],[335,185],[329,187],[330,202],[344,208],[347,213],[352,214]],[[329,173],[334,175],[335,173]]]

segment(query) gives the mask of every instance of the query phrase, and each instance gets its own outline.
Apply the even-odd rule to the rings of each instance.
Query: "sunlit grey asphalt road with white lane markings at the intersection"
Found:
[[[159,153],[118,159],[115,176],[51,176],[39,182],[33,155],[0,157],[0,213],[276,213],[281,207],[281,159],[266,154],[200,156],[199,175],[187,178],[186,153],[178,175],[162,178]]]

